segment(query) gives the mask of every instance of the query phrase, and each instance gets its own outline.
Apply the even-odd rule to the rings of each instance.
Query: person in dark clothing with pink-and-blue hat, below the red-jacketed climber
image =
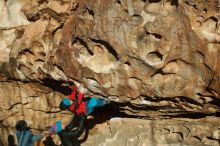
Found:
[[[80,129],[82,128],[79,127],[77,130],[70,131],[62,129],[61,121],[56,121],[56,123],[49,129],[49,134],[52,135],[57,133],[63,146],[80,146],[77,140],[77,137],[79,137],[81,133]]]

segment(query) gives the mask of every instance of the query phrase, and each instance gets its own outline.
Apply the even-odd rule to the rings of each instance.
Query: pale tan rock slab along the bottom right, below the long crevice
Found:
[[[199,121],[113,118],[96,125],[82,145],[97,146],[208,146],[219,145],[219,119]]]

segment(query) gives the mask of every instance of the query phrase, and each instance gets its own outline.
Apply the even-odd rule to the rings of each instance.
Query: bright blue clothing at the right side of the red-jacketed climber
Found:
[[[104,99],[98,99],[91,97],[86,101],[86,112],[87,115],[90,115],[96,107],[104,106],[106,101]]]

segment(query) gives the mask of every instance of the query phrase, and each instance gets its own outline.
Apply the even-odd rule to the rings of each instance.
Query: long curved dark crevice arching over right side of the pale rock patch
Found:
[[[108,52],[111,53],[115,57],[115,59],[118,61],[119,56],[118,56],[117,51],[108,42],[103,41],[103,40],[93,39],[93,38],[91,38],[91,41],[104,45],[106,49],[108,50]]]

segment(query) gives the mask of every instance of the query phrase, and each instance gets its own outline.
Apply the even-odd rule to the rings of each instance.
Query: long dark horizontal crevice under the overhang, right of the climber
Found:
[[[168,100],[168,99],[166,99]],[[175,101],[175,99],[172,99]],[[176,102],[176,101],[175,101]],[[129,111],[131,109],[131,114],[125,113],[125,111]],[[163,114],[160,110],[175,110],[167,113],[167,111]],[[161,112],[161,118],[191,118],[191,119],[200,119],[205,118],[206,116],[216,116],[220,117],[220,113],[202,113],[202,112],[189,112],[189,111],[180,111],[178,108],[173,108],[171,106],[140,106],[134,105],[130,102],[125,103],[118,103],[118,102],[111,102],[110,104],[104,107],[98,107],[93,112],[94,119],[88,120],[87,125],[89,129],[92,129],[96,124],[105,123],[106,121],[110,120],[111,118],[139,118],[145,119],[148,118],[147,116],[139,115],[138,112],[134,111],[158,111]],[[153,118],[152,118],[153,119]]]

